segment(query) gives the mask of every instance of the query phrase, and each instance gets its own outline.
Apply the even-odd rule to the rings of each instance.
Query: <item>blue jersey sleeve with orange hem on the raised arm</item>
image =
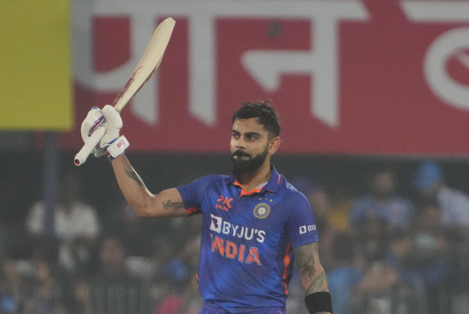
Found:
[[[186,207],[188,215],[200,214],[202,209],[200,204],[202,203],[202,197],[205,190],[213,181],[214,176],[198,178],[187,185],[176,187]]]

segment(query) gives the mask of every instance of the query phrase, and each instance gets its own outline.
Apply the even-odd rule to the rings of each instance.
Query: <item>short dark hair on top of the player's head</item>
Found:
[[[258,102],[244,102],[233,115],[232,122],[238,119],[255,118],[256,122],[262,124],[264,129],[270,133],[271,137],[280,135],[280,122],[278,114],[272,107],[270,99]]]

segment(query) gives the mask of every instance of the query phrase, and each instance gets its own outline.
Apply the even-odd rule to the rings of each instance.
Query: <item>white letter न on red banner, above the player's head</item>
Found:
[[[314,78],[311,79],[311,114],[336,127],[339,125],[338,24],[340,20],[366,20],[368,15],[357,1],[346,1],[341,5],[320,3],[323,5],[309,12],[314,49],[306,52],[251,50],[244,54],[242,62],[270,92],[277,90],[284,73],[310,75]]]

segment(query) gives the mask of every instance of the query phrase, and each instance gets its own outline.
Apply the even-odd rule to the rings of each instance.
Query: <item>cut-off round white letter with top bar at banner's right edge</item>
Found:
[[[402,2],[408,18],[415,21],[431,22],[468,22],[469,5],[467,1],[422,1]],[[452,78],[446,63],[455,57],[469,71],[469,56],[463,50],[469,49],[469,28],[451,29],[428,47],[424,59],[425,78],[432,91],[443,101],[460,109],[469,109],[469,86]]]

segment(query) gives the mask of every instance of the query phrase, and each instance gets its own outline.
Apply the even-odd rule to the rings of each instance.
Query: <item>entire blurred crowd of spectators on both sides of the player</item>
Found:
[[[352,196],[287,177],[311,203],[334,313],[469,313],[469,197],[434,162],[418,165],[405,194],[394,168],[368,170]],[[0,221],[0,314],[196,314],[201,216],[139,218],[122,196],[98,209],[83,183],[61,175],[51,217],[38,197]],[[15,192],[0,189],[3,217]],[[307,314],[303,296],[295,271],[289,314]]]

